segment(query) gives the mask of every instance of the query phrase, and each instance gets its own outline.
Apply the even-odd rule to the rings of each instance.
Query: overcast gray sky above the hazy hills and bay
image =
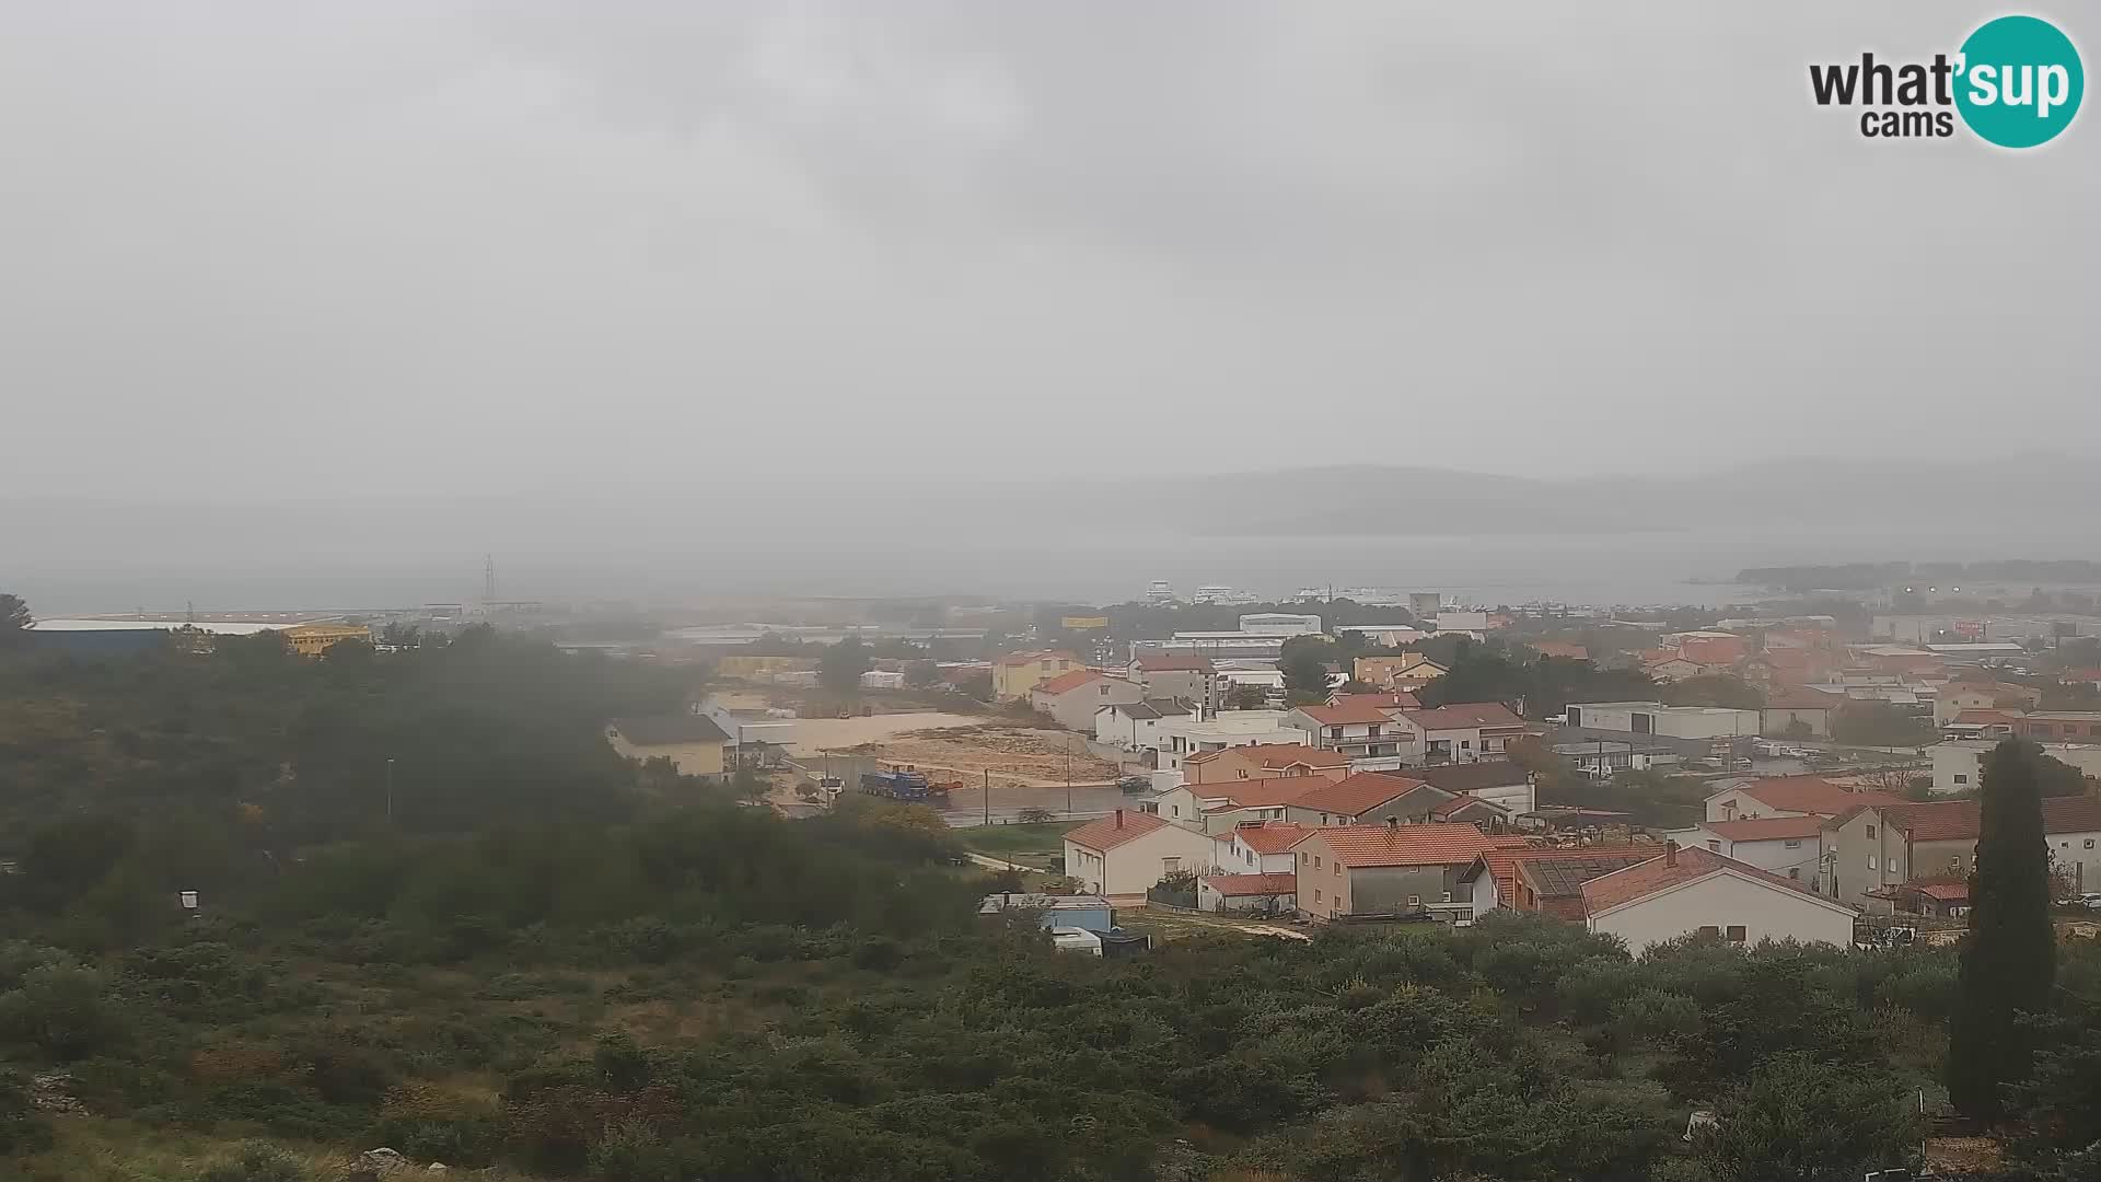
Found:
[[[2101,116],[1809,101],[1996,13],[4,0],[0,494],[2093,452]]]

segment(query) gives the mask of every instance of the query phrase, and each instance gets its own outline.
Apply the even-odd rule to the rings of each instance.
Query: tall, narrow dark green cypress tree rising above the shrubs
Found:
[[[2057,972],[2042,749],[2021,738],[1994,747],[1981,795],[1960,999],[1948,1031],[1948,1098],[1969,1117],[1996,1119],[2002,1085],[2027,1075],[2034,1049],[2015,1014],[2048,1010]]]

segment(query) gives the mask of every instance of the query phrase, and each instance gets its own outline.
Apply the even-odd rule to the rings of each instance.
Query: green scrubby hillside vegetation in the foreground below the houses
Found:
[[[1857,1178],[1937,1089],[1946,953],[1632,961],[1500,917],[1067,957],[975,915],[996,883],[924,810],[788,822],[616,759],[599,721],[679,692],[647,671],[261,648],[0,656],[4,1178],[380,1144],[603,1182]],[[2059,982],[2015,1119],[2069,1178],[2101,959]]]

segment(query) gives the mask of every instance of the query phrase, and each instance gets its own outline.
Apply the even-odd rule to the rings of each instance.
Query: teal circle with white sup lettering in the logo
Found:
[[[2000,17],[1962,42],[1956,109],[1988,143],[2036,147],[2072,126],[2086,95],[2080,50],[2057,25]]]

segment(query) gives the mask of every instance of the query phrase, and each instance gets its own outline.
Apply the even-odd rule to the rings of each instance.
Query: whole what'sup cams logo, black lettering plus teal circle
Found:
[[[2086,72],[2080,50],[2038,17],[1998,17],[1977,25],[1952,57],[1809,67],[1819,107],[1861,107],[1868,139],[1952,137],[1962,126],[1998,147],[2036,147],[2057,139],[2080,114]]]

